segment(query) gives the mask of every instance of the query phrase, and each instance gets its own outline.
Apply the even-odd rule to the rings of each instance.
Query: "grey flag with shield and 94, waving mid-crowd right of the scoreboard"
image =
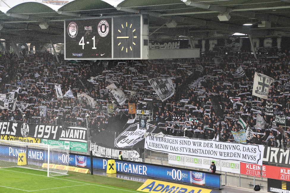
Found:
[[[159,77],[152,78],[148,81],[155,90],[156,94],[159,95],[162,102],[174,95],[175,88],[171,78]]]

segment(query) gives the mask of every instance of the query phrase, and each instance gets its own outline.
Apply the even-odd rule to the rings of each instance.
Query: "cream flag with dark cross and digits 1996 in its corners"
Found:
[[[273,78],[255,72],[252,95],[268,100],[269,89],[273,82]]]

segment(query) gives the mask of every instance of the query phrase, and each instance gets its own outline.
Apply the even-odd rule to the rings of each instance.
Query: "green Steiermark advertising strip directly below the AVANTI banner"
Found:
[[[88,144],[87,143],[80,143],[80,142],[73,142],[73,141],[56,141],[56,140],[46,140],[42,139],[43,144],[48,145],[64,145],[65,149],[69,149],[70,151],[81,151],[81,152],[88,152]]]

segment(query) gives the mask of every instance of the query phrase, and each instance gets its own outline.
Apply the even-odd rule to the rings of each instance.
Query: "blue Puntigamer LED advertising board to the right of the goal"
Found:
[[[86,157],[86,160],[90,157]],[[69,165],[75,166],[75,155],[70,155]],[[221,188],[221,174],[201,172],[198,170],[179,169],[168,166],[146,164],[141,162],[130,162],[115,160],[117,173],[126,173],[148,178],[181,182],[185,184],[197,184],[205,187]],[[107,170],[108,159],[93,157],[93,169]],[[91,163],[86,162],[86,167],[90,168]]]

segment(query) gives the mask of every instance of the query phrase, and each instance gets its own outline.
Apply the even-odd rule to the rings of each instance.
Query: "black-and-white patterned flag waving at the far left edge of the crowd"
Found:
[[[19,89],[20,87],[16,91],[0,94],[0,109],[15,111]]]

